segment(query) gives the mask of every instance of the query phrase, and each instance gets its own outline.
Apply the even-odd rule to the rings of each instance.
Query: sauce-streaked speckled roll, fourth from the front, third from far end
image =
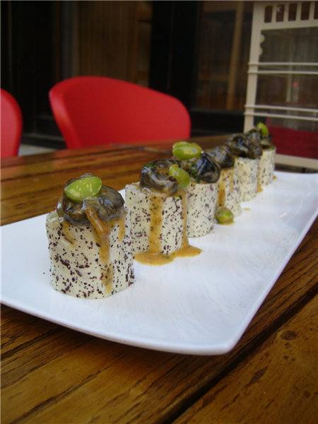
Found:
[[[216,215],[224,208],[229,209],[233,216],[240,215],[240,213],[242,213],[240,204],[240,184],[234,156],[225,146],[208,149],[206,154],[217,162],[222,169],[220,179],[218,180]]]

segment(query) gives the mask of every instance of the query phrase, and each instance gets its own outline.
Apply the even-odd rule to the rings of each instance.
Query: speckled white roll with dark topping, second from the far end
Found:
[[[237,176],[240,184],[240,200],[249,201],[257,196],[257,173],[262,149],[257,141],[249,139],[245,134],[232,134],[225,141],[225,146],[235,156]]]

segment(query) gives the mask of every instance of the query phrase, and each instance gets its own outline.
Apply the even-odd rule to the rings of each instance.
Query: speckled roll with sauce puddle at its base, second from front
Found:
[[[126,186],[136,260],[161,265],[201,252],[187,239],[187,184],[189,175],[177,161],[163,159],[143,165],[140,182]]]

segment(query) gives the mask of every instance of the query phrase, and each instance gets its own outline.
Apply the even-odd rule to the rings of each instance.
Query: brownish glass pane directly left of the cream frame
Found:
[[[204,1],[196,107],[243,111],[252,2]]]

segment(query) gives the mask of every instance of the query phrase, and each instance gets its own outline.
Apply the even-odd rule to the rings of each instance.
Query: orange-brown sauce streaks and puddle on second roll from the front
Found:
[[[176,252],[164,254],[160,252],[160,232],[163,226],[163,206],[165,197],[151,196],[151,231],[149,234],[149,252],[136,253],[134,259],[146,265],[165,265],[172,262],[176,257],[193,257],[202,252],[201,249],[189,245],[187,237],[187,196],[184,190],[178,190],[175,196],[179,196],[183,203],[183,229],[182,246]]]

